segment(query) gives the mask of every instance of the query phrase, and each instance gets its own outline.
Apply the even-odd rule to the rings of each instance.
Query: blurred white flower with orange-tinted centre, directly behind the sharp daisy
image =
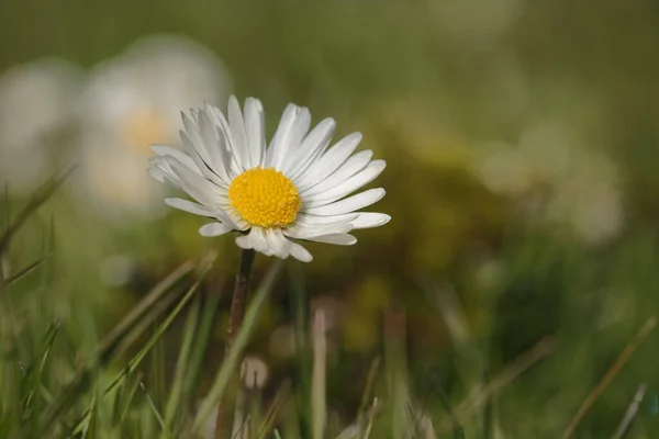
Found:
[[[85,194],[107,216],[163,212],[161,187],[144,169],[154,143],[179,143],[180,111],[223,101],[230,76],[210,50],[150,36],[93,69],[80,102]]]

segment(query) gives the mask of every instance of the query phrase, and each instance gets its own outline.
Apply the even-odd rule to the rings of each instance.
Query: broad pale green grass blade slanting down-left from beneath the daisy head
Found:
[[[279,274],[280,268],[281,260],[278,260],[270,268],[270,270],[268,270],[264,281],[256,291],[256,294],[254,295],[254,299],[247,308],[247,313],[245,313],[243,325],[234,338],[234,342],[217,372],[215,381],[213,382],[209,394],[200,404],[197,416],[192,423],[192,431],[197,431],[205,423],[206,418],[213,410],[214,405],[222,398],[224,391],[226,390],[226,385],[228,384],[228,381],[238,364],[241,354],[245,349],[247,341],[249,340],[254,327],[256,326],[266,299],[275,285],[275,281]]]

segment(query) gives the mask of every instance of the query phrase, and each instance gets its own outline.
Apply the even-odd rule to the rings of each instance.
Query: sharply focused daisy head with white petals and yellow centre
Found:
[[[264,110],[248,98],[244,112],[235,97],[228,119],[211,104],[183,114],[182,153],[154,145],[149,173],[186,191],[197,203],[166,199],[172,207],[215,221],[202,236],[238,230],[238,247],[267,256],[292,256],[304,262],[311,254],[291,239],[353,245],[349,232],[389,222],[383,213],[356,212],[384,196],[369,189],[348,196],[384,169],[372,151],[353,155],[361,134],[353,133],[328,148],[335,123],[325,119],[313,130],[308,109],[289,104],[266,147]]]

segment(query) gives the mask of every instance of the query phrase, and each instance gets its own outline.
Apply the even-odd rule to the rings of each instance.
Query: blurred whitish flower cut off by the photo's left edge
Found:
[[[56,134],[71,122],[79,79],[59,59],[13,67],[0,77],[0,176],[12,193],[32,191],[53,171],[51,149],[60,146]]]

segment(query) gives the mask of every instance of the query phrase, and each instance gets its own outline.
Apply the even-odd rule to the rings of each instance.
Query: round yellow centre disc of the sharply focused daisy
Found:
[[[260,167],[246,170],[231,182],[228,200],[243,219],[264,228],[292,224],[302,204],[291,180],[275,168]]]

